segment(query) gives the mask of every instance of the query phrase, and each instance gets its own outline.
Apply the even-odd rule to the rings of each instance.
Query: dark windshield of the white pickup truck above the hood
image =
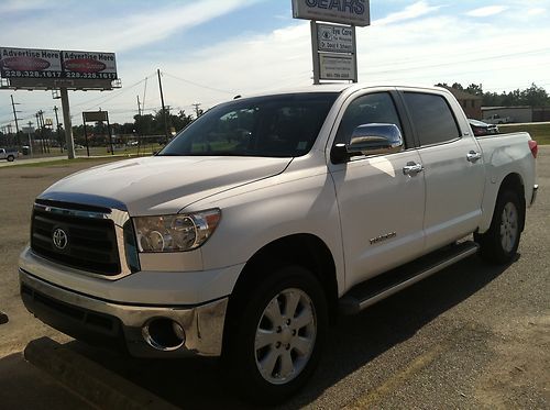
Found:
[[[310,92],[233,100],[206,112],[158,155],[301,156],[337,97]]]

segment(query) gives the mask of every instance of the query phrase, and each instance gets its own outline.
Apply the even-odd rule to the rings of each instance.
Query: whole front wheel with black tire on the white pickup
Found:
[[[299,266],[276,269],[245,293],[230,318],[226,374],[244,399],[280,402],[317,367],[328,329],[326,297]]]

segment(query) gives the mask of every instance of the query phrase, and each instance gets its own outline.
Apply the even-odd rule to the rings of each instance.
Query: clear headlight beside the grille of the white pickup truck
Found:
[[[221,211],[133,218],[140,252],[182,252],[202,245],[220,222]]]

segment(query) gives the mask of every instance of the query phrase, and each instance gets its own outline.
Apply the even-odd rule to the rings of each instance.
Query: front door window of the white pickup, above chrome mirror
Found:
[[[349,144],[353,130],[372,123],[395,124],[403,135],[399,115],[388,92],[369,93],[353,100],[342,117],[334,144]]]

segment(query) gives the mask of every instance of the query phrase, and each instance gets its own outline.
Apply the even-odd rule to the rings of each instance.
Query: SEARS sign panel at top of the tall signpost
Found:
[[[293,0],[295,19],[365,26],[371,24],[369,0]]]

